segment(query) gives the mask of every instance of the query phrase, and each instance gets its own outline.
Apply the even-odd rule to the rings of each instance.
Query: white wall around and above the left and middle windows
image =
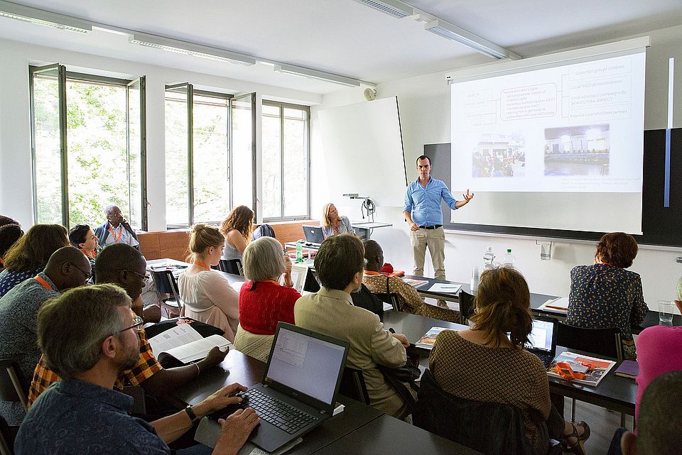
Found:
[[[149,230],[166,229],[166,157],[164,90],[166,84],[191,82],[225,93],[257,92],[259,98],[286,99],[301,104],[322,101],[320,94],[283,89],[242,80],[116,60],[69,50],[0,40],[0,214],[24,226],[33,224],[31,184],[31,124],[28,65],[59,62],[81,72],[129,77],[146,75],[147,183]],[[247,159],[251,159],[249,156]],[[58,175],[58,170],[55,170]]]

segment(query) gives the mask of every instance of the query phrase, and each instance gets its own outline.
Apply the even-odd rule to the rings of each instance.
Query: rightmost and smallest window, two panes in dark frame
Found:
[[[263,219],[310,216],[310,108],[263,102]]]

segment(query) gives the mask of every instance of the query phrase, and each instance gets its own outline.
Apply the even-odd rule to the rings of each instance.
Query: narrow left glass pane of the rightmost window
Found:
[[[282,216],[281,109],[263,104],[263,217]]]

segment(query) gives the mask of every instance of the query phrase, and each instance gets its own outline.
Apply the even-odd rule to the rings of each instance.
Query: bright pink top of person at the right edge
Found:
[[[681,278],[682,281],[682,278]],[[679,296],[682,298],[682,296]],[[675,300],[680,312],[682,302]],[[669,371],[682,370],[682,327],[658,325],[647,327],[637,337],[637,401],[634,404],[634,417],[639,414],[639,401],[646,386],[657,376]]]

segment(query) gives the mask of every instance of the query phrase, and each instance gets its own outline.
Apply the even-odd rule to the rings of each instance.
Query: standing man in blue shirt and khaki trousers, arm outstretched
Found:
[[[431,177],[431,160],[426,155],[417,158],[417,170],[419,178],[407,187],[403,212],[411,229],[414,275],[424,275],[424,258],[428,247],[435,278],[445,280],[445,233],[440,199],[450,209],[456,210],[468,204],[474,194],[467,189],[466,194],[462,194],[464,200],[456,201],[442,180]]]

